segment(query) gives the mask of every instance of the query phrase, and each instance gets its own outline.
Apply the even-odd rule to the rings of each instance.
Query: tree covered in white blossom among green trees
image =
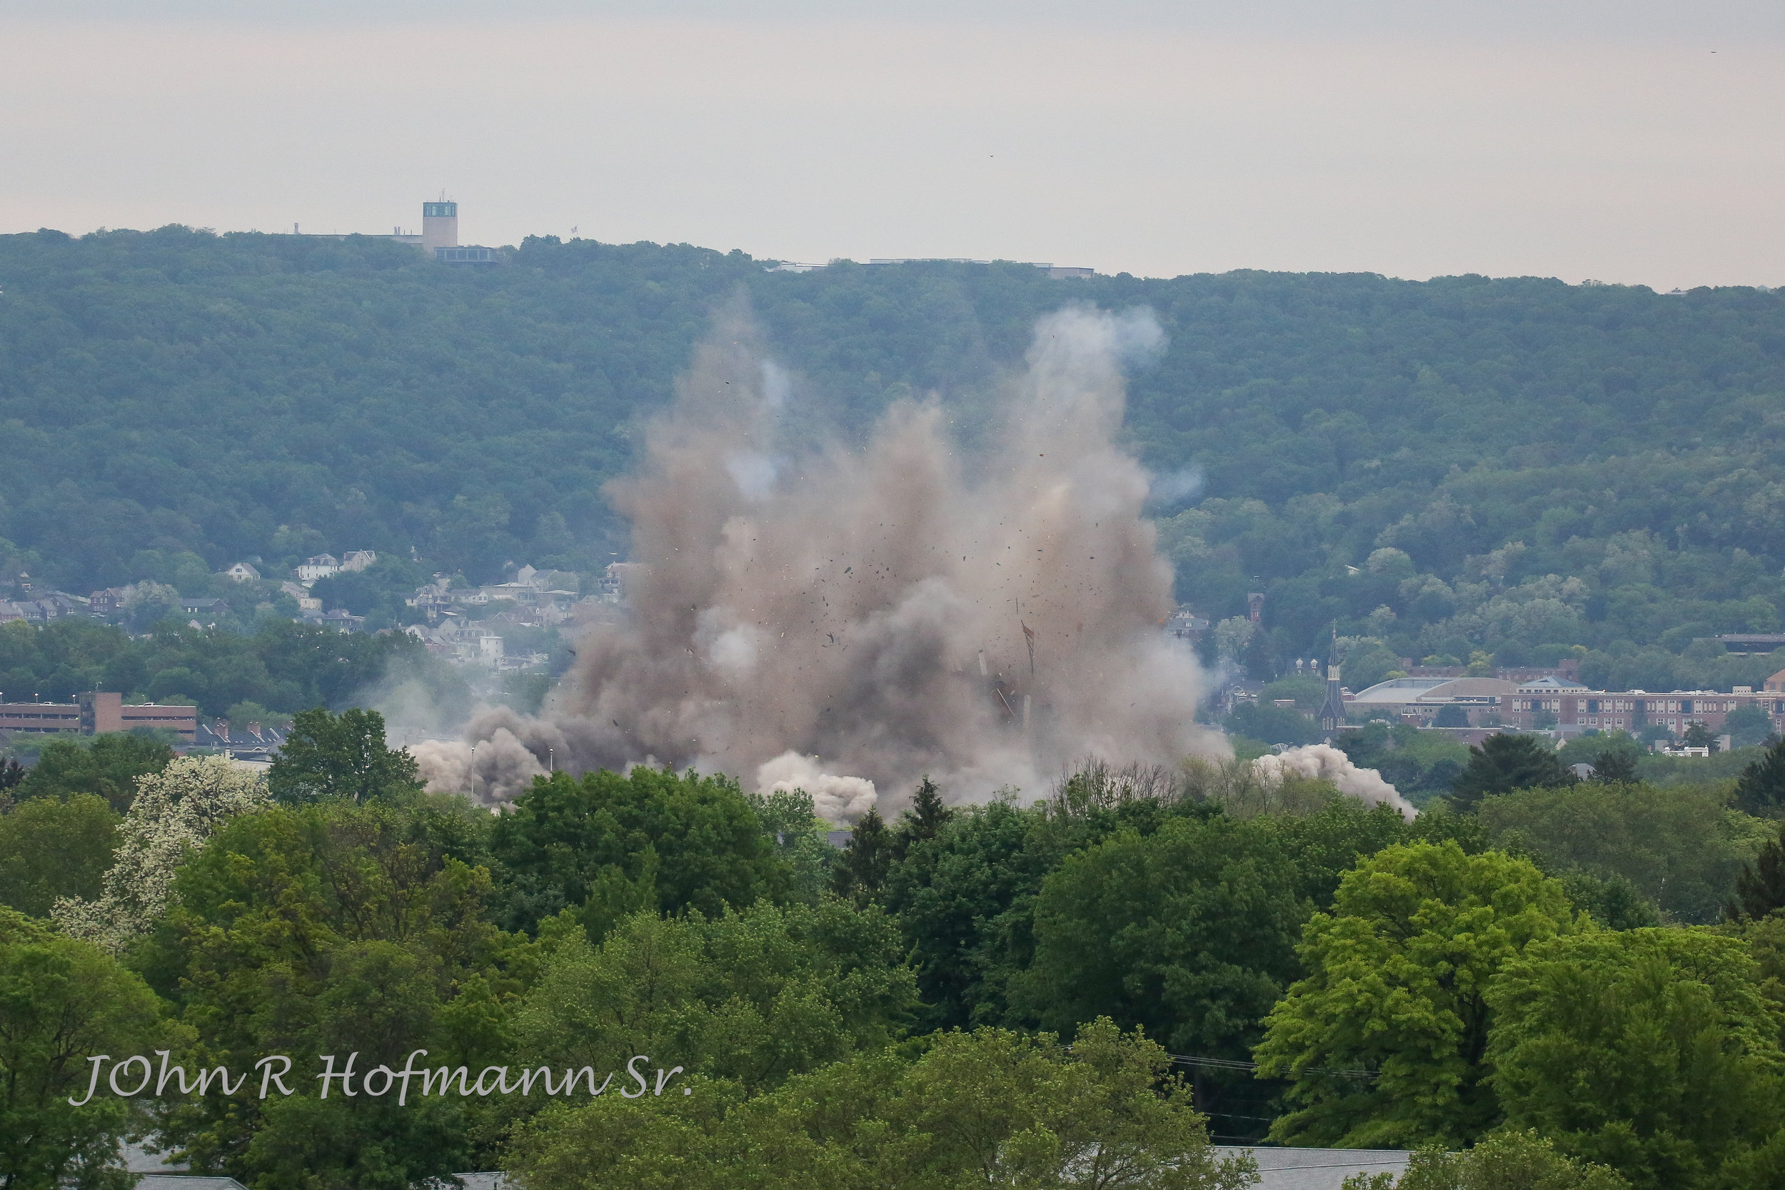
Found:
[[[178,756],[136,778],[100,899],[61,897],[50,917],[62,933],[116,954],[168,910],[173,872],[187,855],[228,819],[270,805],[266,781],[223,756]]]

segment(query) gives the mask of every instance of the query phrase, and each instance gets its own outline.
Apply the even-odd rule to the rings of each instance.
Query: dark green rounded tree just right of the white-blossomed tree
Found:
[[[384,715],[352,707],[300,710],[266,774],[273,797],[286,803],[341,797],[403,797],[421,789],[416,758],[384,746]]]

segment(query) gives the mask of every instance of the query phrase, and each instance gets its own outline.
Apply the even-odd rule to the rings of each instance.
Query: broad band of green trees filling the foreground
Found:
[[[123,814],[43,790],[0,815],[9,1185],[98,1185],[130,1129],[255,1190],[1103,1185],[1108,1161],[1239,1190],[1210,1136],[1266,1126],[1430,1147],[1424,1186],[1785,1169],[1785,746],[1737,794],[1773,817],[1478,749],[1460,810],[1412,822],[1248,764],[1091,765],[1030,806],[925,781],[837,851],[803,794],[648,767],[557,773],[493,817],[421,794],[382,733],[303,712],[264,785],[178,758]],[[230,1078],[287,1054],[300,1087],[95,1076],[96,1110],[64,1106],[87,1054],[155,1049]],[[318,1054],[391,1078],[325,1099]],[[396,1103],[416,1062],[559,1090]]]

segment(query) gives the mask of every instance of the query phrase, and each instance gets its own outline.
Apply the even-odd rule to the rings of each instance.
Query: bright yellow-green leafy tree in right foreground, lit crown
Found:
[[[1303,930],[1308,974],[1266,1021],[1258,1076],[1289,1078],[1283,1144],[1460,1145],[1499,1108],[1483,1063],[1489,981],[1532,940],[1576,930],[1535,865],[1455,842],[1385,847]]]

